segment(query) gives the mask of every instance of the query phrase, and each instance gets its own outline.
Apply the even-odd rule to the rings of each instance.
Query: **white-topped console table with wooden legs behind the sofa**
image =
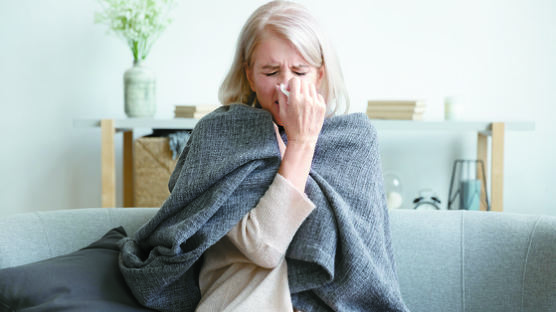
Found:
[[[116,157],[114,135],[123,132],[123,206],[133,207],[133,131],[134,129],[193,129],[197,119],[129,118],[76,119],[75,128],[101,128],[102,207],[116,207]],[[477,159],[490,167],[491,210],[503,211],[504,136],[506,131],[532,131],[533,122],[490,121],[412,121],[372,120],[377,131],[454,131],[477,133]],[[491,163],[488,159],[488,137],[491,137]],[[482,173],[481,173],[482,174]],[[478,178],[482,178],[479,176]],[[483,194],[484,196],[484,190]],[[486,207],[481,206],[482,210]]]

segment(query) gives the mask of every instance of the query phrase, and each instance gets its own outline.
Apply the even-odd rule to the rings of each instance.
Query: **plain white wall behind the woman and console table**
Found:
[[[422,97],[427,119],[440,119],[442,98],[459,94],[469,120],[534,121],[534,132],[506,135],[505,210],[556,215],[556,2],[300,2],[337,47],[352,111],[369,98]],[[262,3],[182,2],[148,57],[157,117],[171,117],[175,104],[217,103],[239,30]],[[0,214],[100,206],[100,131],[72,122],[125,117],[122,75],[132,57],[93,23],[98,8],[0,2]],[[407,198],[430,187],[445,200],[452,161],[475,156],[472,133],[380,137],[384,169],[402,178]],[[121,135],[116,143],[121,168]]]

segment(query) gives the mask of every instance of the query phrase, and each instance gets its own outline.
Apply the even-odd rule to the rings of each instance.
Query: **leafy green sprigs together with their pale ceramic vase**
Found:
[[[152,117],[156,112],[156,79],[144,60],[172,22],[170,12],[177,0],[98,1],[102,11],[96,13],[96,23],[106,24],[133,54],[133,66],[124,73],[125,113],[128,117]]]

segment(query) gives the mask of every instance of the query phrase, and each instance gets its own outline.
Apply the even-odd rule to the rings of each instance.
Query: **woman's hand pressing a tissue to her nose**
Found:
[[[315,85],[293,77],[288,82],[289,98],[279,90],[279,86],[276,88],[279,119],[288,136],[288,146],[291,143],[316,145],[326,114],[326,104]]]

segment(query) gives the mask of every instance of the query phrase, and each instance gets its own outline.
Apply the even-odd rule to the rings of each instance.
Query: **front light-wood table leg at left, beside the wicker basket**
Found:
[[[116,207],[116,156],[114,151],[114,120],[100,121],[101,131],[101,206]]]

